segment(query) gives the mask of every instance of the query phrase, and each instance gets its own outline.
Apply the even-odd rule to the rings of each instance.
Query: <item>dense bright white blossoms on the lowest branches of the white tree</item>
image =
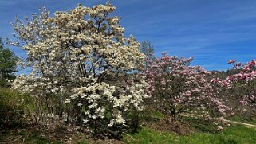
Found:
[[[84,79],[85,80],[85,79]],[[131,85],[121,88],[118,85],[97,82],[96,78],[89,77],[91,81],[84,87],[73,88],[73,95],[65,103],[71,103],[79,99],[77,106],[86,107],[85,115],[87,118],[84,123],[90,122],[89,119],[104,119],[106,112],[112,111],[111,119],[108,126],[113,124],[122,124],[125,126],[125,120],[122,112],[130,111],[132,107],[141,111],[144,107],[141,105],[143,98],[148,97],[144,93],[144,80],[138,83],[129,80]],[[132,82],[132,83],[131,83]]]

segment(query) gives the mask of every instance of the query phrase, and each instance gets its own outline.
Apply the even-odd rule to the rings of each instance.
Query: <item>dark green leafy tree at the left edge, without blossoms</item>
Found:
[[[5,86],[6,80],[14,80],[16,72],[16,63],[18,57],[10,49],[4,48],[0,38],[0,85]]]

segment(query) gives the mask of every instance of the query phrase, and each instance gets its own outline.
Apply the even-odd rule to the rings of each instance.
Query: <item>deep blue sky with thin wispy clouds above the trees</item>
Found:
[[[14,33],[9,21],[37,13],[104,4],[106,0],[0,0],[0,36]],[[149,40],[156,56],[193,56],[192,64],[207,70],[230,68],[227,60],[246,62],[256,57],[256,1],[254,0],[112,0],[126,35]],[[19,56],[26,55],[15,49]]]

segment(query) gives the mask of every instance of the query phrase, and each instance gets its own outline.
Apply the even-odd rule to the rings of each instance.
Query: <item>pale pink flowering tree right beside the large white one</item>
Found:
[[[200,66],[189,66],[192,58],[179,58],[162,53],[151,61],[145,75],[152,105],[166,115],[179,115],[184,111],[211,116],[225,113],[226,107],[216,95],[207,72]],[[211,111],[210,111],[211,110]]]

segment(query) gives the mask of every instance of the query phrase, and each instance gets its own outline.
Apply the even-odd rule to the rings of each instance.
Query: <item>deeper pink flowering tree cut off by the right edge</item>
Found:
[[[233,97],[244,106],[242,111],[250,111],[255,113],[256,106],[256,88],[255,88],[255,60],[251,60],[246,64],[242,64],[235,60],[229,60],[228,64],[232,64],[233,68],[238,72],[227,76],[226,79],[215,79],[219,86],[229,91],[230,97]],[[245,108],[246,107],[246,108]],[[237,108],[237,107],[234,107]],[[249,108],[249,110],[248,110]]]

